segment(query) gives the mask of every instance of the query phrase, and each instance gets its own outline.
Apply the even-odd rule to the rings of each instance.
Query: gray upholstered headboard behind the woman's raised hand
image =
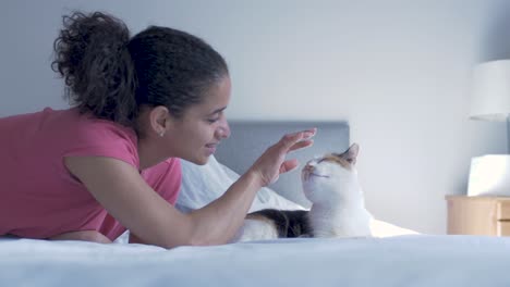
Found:
[[[231,136],[218,147],[216,159],[242,174],[255,160],[284,134],[317,127],[314,146],[289,154],[301,165],[296,170],[283,174],[270,188],[281,196],[304,207],[309,201],[301,191],[301,167],[316,155],[326,152],[342,152],[348,149],[349,125],[347,122],[230,122]]]

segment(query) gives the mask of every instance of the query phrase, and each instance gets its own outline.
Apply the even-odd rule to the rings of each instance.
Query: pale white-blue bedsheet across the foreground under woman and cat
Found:
[[[510,238],[300,238],[171,250],[3,238],[0,286],[510,286]]]

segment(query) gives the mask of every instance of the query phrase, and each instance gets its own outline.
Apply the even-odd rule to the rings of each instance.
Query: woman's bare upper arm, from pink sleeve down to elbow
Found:
[[[190,216],[168,204],[132,165],[104,157],[68,157],[64,162],[108,213],[144,242],[190,245]]]

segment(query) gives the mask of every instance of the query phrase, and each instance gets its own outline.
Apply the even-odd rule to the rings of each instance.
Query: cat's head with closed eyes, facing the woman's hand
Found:
[[[313,203],[359,197],[356,157],[360,147],[353,144],[343,153],[327,153],[306,163],[301,172],[303,191]],[[350,195],[350,192],[357,192]]]

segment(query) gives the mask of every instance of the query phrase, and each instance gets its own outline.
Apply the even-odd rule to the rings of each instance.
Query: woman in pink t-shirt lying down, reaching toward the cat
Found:
[[[130,38],[104,13],[63,17],[52,67],[69,110],[0,118],[0,235],[166,248],[228,242],[255,194],[296,167],[289,151],[315,129],[266,150],[218,200],[190,214],[174,207],[179,159],[205,164],[230,134],[230,77],[222,57],[184,32],[151,26]]]

